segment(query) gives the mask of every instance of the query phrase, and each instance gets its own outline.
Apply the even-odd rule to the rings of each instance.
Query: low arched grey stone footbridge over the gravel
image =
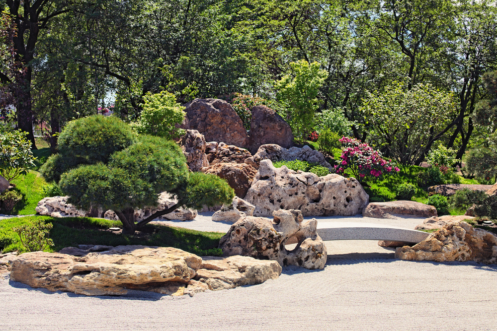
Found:
[[[317,232],[323,241],[328,240],[386,240],[419,243],[429,233],[384,224],[355,222],[319,222]]]

